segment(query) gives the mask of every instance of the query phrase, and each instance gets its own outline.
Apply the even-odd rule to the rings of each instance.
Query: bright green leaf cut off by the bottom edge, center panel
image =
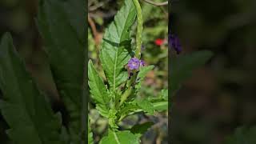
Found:
[[[138,144],[139,139],[130,131],[110,131],[109,134],[102,138],[100,144]]]

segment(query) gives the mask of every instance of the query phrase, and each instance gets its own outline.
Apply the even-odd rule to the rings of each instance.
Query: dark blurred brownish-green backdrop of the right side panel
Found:
[[[182,54],[214,52],[174,96],[174,144],[221,144],[237,127],[256,124],[255,7],[255,0],[172,2],[170,25]]]

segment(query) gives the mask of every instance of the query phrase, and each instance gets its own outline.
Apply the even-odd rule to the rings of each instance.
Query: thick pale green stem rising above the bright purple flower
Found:
[[[136,34],[135,57],[139,59],[141,58],[141,47],[142,47],[142,29],[143,29],[142,8],[138,0],[133,0],[133,2],[137,11],[137,34]]]

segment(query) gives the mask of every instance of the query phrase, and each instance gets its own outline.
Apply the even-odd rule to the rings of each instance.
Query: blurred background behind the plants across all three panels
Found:
[[[113,20],[122,0],[90,0],[89,55],[97,62],[102,32]],[[163,2],[154,0],[154,2]],[[143,2],[142,2],[143,3]],[[170,137],[174,144],[221,144],[238,126],[256,124],[256,1],[254,0],[174,0],[171,27],[182,42],[182,54],[211,50],[214,57],[205,67],[194,70],[174,97]],[[147,75],[142,95],[155,95],[167,87],[168,9],[143,3],[145,29],[142,58],[157,69]],[[37,0],[0,0],[0,35],[10,31],[14,45],[38,86],[51,99],[54,110],[64,110],[58,100],[42,40],[34,23]],[[86,18],[86,16],[85,16]],[[95,28],[93,28],[94,26]],[[96,30],[96,33],[94,30]],[[178,57],[171,54],[171,57]],[[98,66],[98,70],[100,70]],[[1,97],[1,92],[0,92]],[[65,114],[65,113],[64,113]],[[97,142],[106,130],[106,120],[90,110],[91,126]],[[165,112],[158,117],[138,114],[127,118],[123,128],[133,122],[156,122],[143,143],[166,143]],[[0,115],[0,143],[7,144],[8,129]]]

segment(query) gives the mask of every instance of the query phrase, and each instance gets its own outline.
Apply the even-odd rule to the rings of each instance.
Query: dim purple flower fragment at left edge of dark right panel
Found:
[[[176,35],[168,34],[168,42],[169,42],[169,48],[171,47],[174,48],[177,54],[180,54],[182,52],[182,45]]]

